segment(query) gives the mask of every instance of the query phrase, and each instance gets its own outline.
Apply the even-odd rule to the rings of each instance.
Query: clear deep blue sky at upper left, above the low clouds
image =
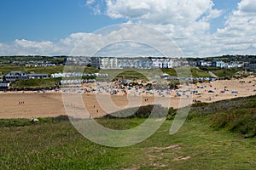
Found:
[[[55,41],[74,32],[91,32],[121,23],[94,15],[84,0],[3,0],[0,2],[0,41]]]

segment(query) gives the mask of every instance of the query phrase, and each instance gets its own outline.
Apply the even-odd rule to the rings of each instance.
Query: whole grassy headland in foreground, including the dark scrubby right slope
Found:
[[[1,169],[255,169],[255,100],[253,96],[194,105],[174,135],[169,134],[171,117],[150,138],[124,148],[94,144],[65,120],[1,120]],[[144,120],[97,122],[125,129]]]

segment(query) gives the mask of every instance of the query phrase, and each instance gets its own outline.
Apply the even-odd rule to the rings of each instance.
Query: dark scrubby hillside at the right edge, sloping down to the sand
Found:
[[[256,136],[256,96],[199,104],[191,108],[190,117],[207,115],[211,127],[238,133],[243,138]]]

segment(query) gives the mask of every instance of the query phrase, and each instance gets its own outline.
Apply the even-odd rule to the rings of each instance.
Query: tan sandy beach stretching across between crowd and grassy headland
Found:
[[[140,105],[159,104],[165,107],[179,108],[189,105],[192,101],[214,102],[223,99],[233,99],[256,94],[255,77],[247,77],[239,80],[221,80],[209,83],[198,83],[192,88],[198,93],[192,96],[190,92],[172,91],[171,95],[161,97],[151,94],[133,96],[133,94],[105,95],[105,94],[79,94],[83,96],[83,104],[73,100],[73,97],[65,101],[67,111],[70,108],[82,111],[84,106],[92,117],[103,116],[113,111],[123,110]],[[201,88],[203,87],[203,88]],[[181,87],[181,89],[183,89]],[[208,93],[209,90],[214,93]],[[223,92],[221,92],[223,91]],[[232,94],[236,91],[238,94]],[[182,97],[177,97],[177,93]],[[72,96],[72,94],[70,94]],[[189,96],[189,98],[187,98]],[[190,98],[190,96],[192,98]],[[82,101],[82,100],[80,100]],[[0,119],[54,117],[67,115],[61,93],[35,93],[12,92],[0,93]],[[69,109],[68,109],[69,108]]]

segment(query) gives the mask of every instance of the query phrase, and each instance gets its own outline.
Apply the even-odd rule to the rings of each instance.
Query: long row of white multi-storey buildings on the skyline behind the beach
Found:
[[[91,65],[99,69],[150,69],[150,68],[175,68],[181,65],[176,58],[115,58],[93,57]]]

